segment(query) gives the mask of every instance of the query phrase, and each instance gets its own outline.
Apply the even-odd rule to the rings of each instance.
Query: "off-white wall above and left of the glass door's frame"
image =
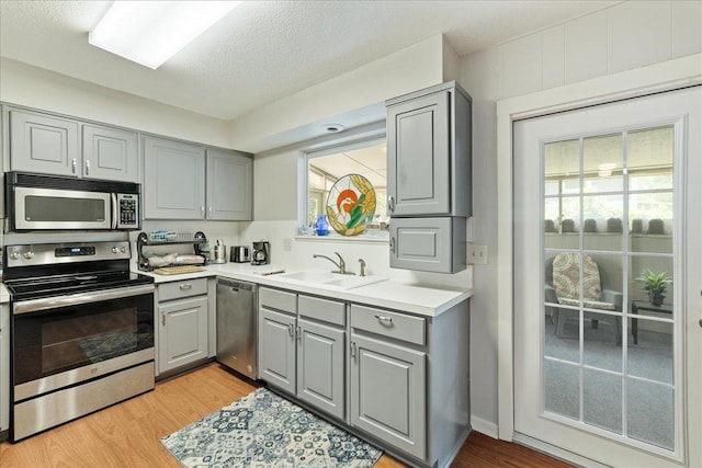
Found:
[[[461,84],[473,96],[473,240],[490,263],[475,266],[471,323],[474,427],[497,433],[496,103],[702,52],[702,2],[632,1],[534,32],[462,58]],[[516,281],[518,281],[517,278]]]

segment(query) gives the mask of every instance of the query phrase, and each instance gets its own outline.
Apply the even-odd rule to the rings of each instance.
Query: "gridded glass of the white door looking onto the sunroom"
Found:
[[[542,180],[544,408],[668,449],[673,141],[663,126],[550,142]],[[663,283],[656,304],[642,275]]]

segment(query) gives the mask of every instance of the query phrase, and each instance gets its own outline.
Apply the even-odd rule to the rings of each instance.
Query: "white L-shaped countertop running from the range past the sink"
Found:
[[[185,273],[182,275],[159,275],[140,271],[139,273],[152,276],[156,284],[197,277],[223,276],[231,279],[258,283],[264,286],[291,289],[298,293],[326,296],[388,309],[398,309],[427,317],[439,316],[473,295],[472,289],[444,289],[433,285],[410,285],[388,279],[352,289],[339,289],[332,286],[325,286],[324,284],[303,284],[301,282],[285,279],[275,274],[265,274],[281,270],[284,270],[286,273],[297,271],[275,264],[254,266],[248,263],[223,263],[207,265],[202,272]]]

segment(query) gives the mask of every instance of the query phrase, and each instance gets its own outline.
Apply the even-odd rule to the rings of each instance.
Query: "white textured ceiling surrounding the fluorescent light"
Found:
[[[614,1],[247,1],[158,70],[88,44],[111,1],[0,0],[0,55],[231,119],[437,34],[458,55]]]

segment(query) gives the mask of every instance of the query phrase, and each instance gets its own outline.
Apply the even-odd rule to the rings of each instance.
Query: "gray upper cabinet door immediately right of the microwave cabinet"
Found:
[[[204,219],[205,150],[144,137],[144,218]]]

